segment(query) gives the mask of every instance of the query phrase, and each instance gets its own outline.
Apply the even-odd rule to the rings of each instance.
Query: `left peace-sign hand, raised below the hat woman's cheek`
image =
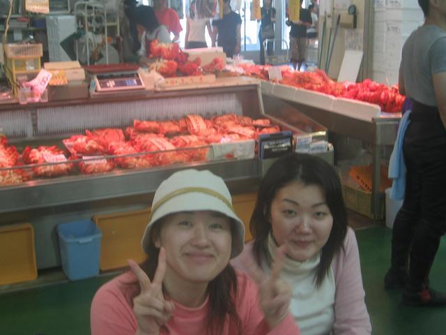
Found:
[[[133,312],[138,322],[138,335],[158,335],[160,327],[169,321],[174,313],[175,305],[164,300],[162,280],[166,274],[166,251],[160,248],[158,266],[151,282],[134,260],[128,260],[130,269],[137,276],[141,292],[133,299]]]

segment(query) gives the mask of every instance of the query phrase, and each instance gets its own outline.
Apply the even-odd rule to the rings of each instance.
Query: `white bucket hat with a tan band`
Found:
[[[153,198],[151,218],[142,237],[144,252],[148,253],[150,230],[153,223],[168,214],[180,211],[217,211],[235,221],[231,258],[243,251],[245,225],[232,207],[229,189],[222,178],[210,171],[182,170],[162,181]]]

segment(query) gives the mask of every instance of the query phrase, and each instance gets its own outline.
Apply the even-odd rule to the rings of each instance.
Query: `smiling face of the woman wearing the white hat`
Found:
[[[164,246],[167,276],[174,281],[208,283],[231,258],[231,221],[215,211],[171,214],[163,219],[155,246]]]

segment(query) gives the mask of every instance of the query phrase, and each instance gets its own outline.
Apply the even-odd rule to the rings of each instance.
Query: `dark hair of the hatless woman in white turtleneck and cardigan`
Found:
[[[272,260],[267,246],[271,231],[269,222],[271,204],[277,192],[293,181],[300,181],[306,186],[321,186],[333,217],[330,237],[322,248],[321,262],[316,271],[317,288],[328,274],[334,253],[343,248],[347,233],[347,213],[342,198],[341,181],[334,168],[323,159],[307,154],[289,154],[271,165],[261,181],[256,206],[249,223],[249,230],[254,237],[252,253],[259,265],[262,262],[271,265]]]

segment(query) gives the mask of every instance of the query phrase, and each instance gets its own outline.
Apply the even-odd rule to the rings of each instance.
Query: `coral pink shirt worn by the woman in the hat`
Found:
[[[237,273],[236,308],[242,324],[243,335],[298,335],[298,326],[291,314],[269,330],[263,312],[259,306],[256,284],[247,275]],[[123,283],[132,283],[136,277],[131,272],[121,274],[109,281],[96,292],[91,304],[92,335],[133,335],[137,331],[137,320],[132,306],[123,292]],[[197,335],[206,334],[208,299],[197,308],[187,308],[176,304],[174,315],[167,323],[167,332],[160,335]],[[228,322],[223,327],[222,335],[236,334]]]

